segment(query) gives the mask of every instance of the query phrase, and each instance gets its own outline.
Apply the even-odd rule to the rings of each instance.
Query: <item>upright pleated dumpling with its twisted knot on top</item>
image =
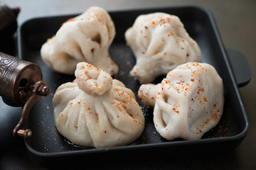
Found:
[[[86,62],[78,63],[75,77],[53,96],[61,135],[75,145],[102,148],[127,145],[142,134],[144,115],[121,81]]]

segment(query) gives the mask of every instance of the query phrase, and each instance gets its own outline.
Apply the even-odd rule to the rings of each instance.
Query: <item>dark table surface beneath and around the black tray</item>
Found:
[[[233,1],[204,1],[204,0],[109,0],[109,1],[69,1],[69,0],[4,0],[0,4],[10,7],[19,6],[18,26],[30,18],[41,16],[59,16],[73,13],[82,13],[90,6],[101,6],[107,11],[117,11],[134,8],[155,8],[164,6],[201,6],[207,8],[215,18],[220,36],[226,49],[234,49],[242,52],[250,64],[252,79],[247,86],[239,89],[242,97],[242,105],[245,107],[250,120],[250,128],[245,140],[235,149],[226,152],[182,153],[177,156],[168,151],[159,157],[142,159],[118,159],[105,162],[86,162],[80,158],[81,163],[70,162],[70,166],[77,169],[256,169],[256,1],[233,0]],[[15,50],[14,50],[15,54]],[[0,101],[0,105],[3,105]],[[21,108],[14,108],[14,113],[5,113],[1,109],[1,134],[11,132],[13,125],[18,123]],[[5,123],[5,124],[3,124]],[[10,126],[9,126],[10,125]],[[21,139],[14,139],[11,134],[1,135],[0,169],[50,169],[46,164],[38,162]],[[4,141],[4,142],[3,142]],[[66,165],[66,164],[65,164]],[[56,167],[63,166],[61,164]]]

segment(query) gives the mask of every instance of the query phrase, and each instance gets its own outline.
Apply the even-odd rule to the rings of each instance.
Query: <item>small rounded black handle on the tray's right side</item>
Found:
[[[238,50],[226,50],[238,87],[246,86],[252,77],[250,66]]]

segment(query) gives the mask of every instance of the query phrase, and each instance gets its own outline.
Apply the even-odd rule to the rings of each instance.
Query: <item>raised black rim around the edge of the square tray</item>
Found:
[[[230,73],[230,79],[232,81],[232,84],[235,84],[235,96],[238,97],[238,101],[240,101],[240,108],[242,110],[242,118],[245,119],[245,128],[238,133],[237,135],[233,136],[228,136],[228,137],[214,137],[214,138],[206,138],[206,139],[200,139],[200,140],[186,140],[186,141],[168,141],[168,142],[162,142],[162,143],[151,143],[151,144],[144,144],[144,145],[126,145],[126,146],[121,146],[121,147],[108,147],[108,148],[92,148],[92,149],[81,149],[81,150],[73,150],[71,152],[68,151],[63,151],[63,152],[39,152],[36,149],[33,149],[27,140],[25,139],[25,145],[27,149],[33,153],[36,154],[39,157],[63,157],[63,156],[73,156],[77,154],[97,154],[97,153],[103,153],[103,152],[112,152],[114,150],[127,150],[127,149],[149,149],[152,147],[175,147],[175,146],[180,146],[183,145],[184,142],[186,142],[186,145],[198,145],[198,144],[210,144],[213,142],[227,142],[227,141],[234,141],[234,140],[243,140],[243,138],[247,135],[247,131],[249,128],[249,119],[247,117],[247,113],[245,111],[245,108],[242,103],[242,98],[240,96],[240,92],[238,90],[238,84],[235,81],[235,76],[233,74],[233,70],[231,69],[230,66],[230,61],[228,60],[227,57],[227,52],[225,51],[223,41],[220,38],[220,33],[218,31],[217,25],[215,23],[215,19],[213,18],[212,13],[201,6],[193,6],[193,5],[186,5],[186,6],[165,6],[165,7],[156,7],[156,8],[132,8],[132,9],[124,9],[124,10],[112,10],[112,11],[107,11],[108,13],[120,13],[120,12],[132,12],[132,11],[156,11],[156,10],[164,10],[164,9],[171,9],[171,8],[195,8],[199,11],[203,11],[203,13],[206,13],[206,16],[208,17],[211,26],[213,28],[213,33],[215,34],[215,38],[218,40],[218,45],[220,45],[220,50],[223,54],[223,58],[225,60],[225,65],[227,66],[228,72]],[[68,17],[68,16],[76,16],[79,15],[80,13],[70,13],[70,14],[64,14],[64,15],[54,15],[54,16],[40,16],[36,18],[30,18],[23,23],[21,23],[21,26],[18,26],[18,57],[22,59],[21,54],[22,54],[22,47],[21,47],[21,29],[23,26],[31,21],[35,20],[41,20],[41,19],[47,19],[47,18],[63,18],[63,17]],[[241,141],[242,142],[242,141]],[[240,145],[240,143],[239,143]]]

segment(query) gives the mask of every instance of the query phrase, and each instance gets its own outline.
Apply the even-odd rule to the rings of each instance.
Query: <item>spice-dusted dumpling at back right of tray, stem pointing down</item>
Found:
[[[138,16],[125,39],[137,60],[130,74],[141,84],[151,83],[180,64],[201,60],[201,50],[183,23],[167,13]]]

